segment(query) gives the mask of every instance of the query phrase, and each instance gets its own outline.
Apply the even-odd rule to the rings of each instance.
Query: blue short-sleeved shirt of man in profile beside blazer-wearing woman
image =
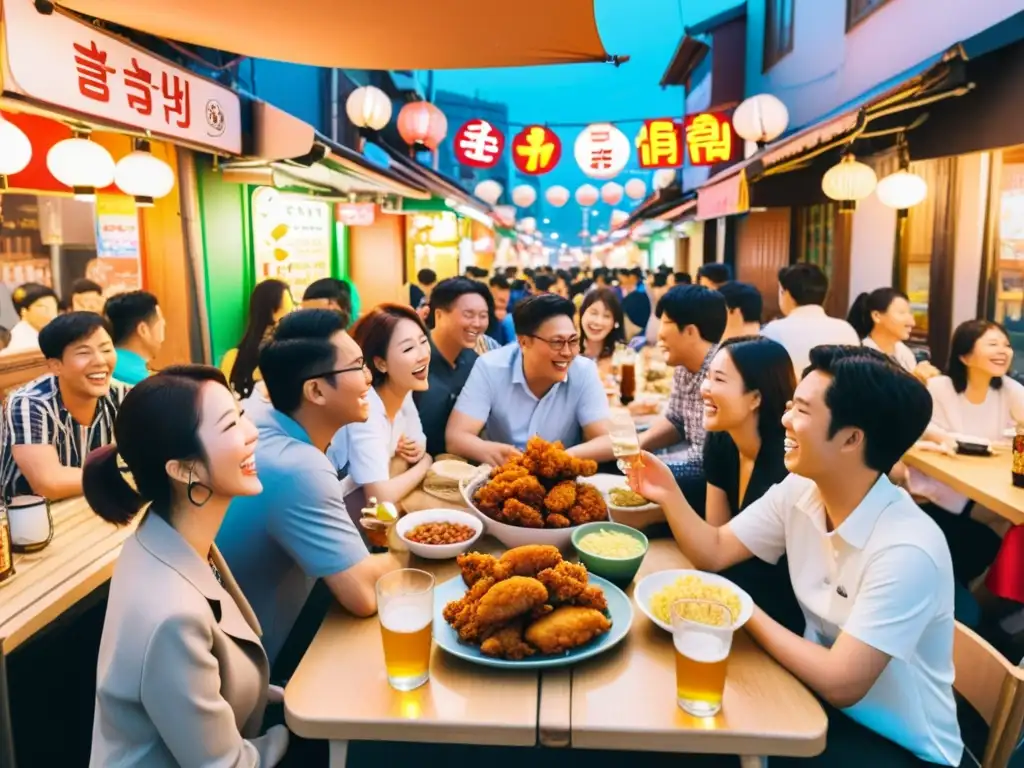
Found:
[[[348,570],[368,552],[334,466],[305,430],[259,389],[243,408],[259,429],[263,493],[231,502],[217,547],[259,618],[273,664],[315,580]]]

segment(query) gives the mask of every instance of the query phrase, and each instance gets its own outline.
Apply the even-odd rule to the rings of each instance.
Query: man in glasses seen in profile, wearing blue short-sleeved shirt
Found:
[[[265,393],[255,390],[243,408],[259,429],[263,493],[231,502],[217,546],[256,611],[272,665],[315,580],[352,613],[372,615],[374,586],[398,562],[369,554],[325,453],[341,427],[370,413],[370,371],[345,317],[329,309],[289,314],[259,365]]]

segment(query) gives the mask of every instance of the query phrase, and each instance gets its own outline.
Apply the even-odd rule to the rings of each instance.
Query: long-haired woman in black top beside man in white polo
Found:
[[[796,386],[788,353],[770,339],[730,339],[712,359],[700,386],[711,524],[724,525],[785,478],[782,414]],[[746,590],[779,624],[803,632],[804,616],[784,557],[775,565],[752,558],[723,575]]]

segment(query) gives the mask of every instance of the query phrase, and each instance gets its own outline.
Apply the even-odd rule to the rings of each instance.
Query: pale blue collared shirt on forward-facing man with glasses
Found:
[[[597,366],[577,357],[565,381],[538,398],[526,386],[522,350],[510,344],[480,357],[463,387],[455,410],[482,421],[487,439],[522,450],[535,434],[561,440],[565,447],[583,441],[583,429],[609,418]]]

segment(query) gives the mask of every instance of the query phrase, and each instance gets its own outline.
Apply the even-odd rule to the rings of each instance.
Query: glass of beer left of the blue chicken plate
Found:
[[[419,688],[430,679],[434,578],[415,568],[382,575],[377,580],[377,615],[388,683],[395,690]]]

